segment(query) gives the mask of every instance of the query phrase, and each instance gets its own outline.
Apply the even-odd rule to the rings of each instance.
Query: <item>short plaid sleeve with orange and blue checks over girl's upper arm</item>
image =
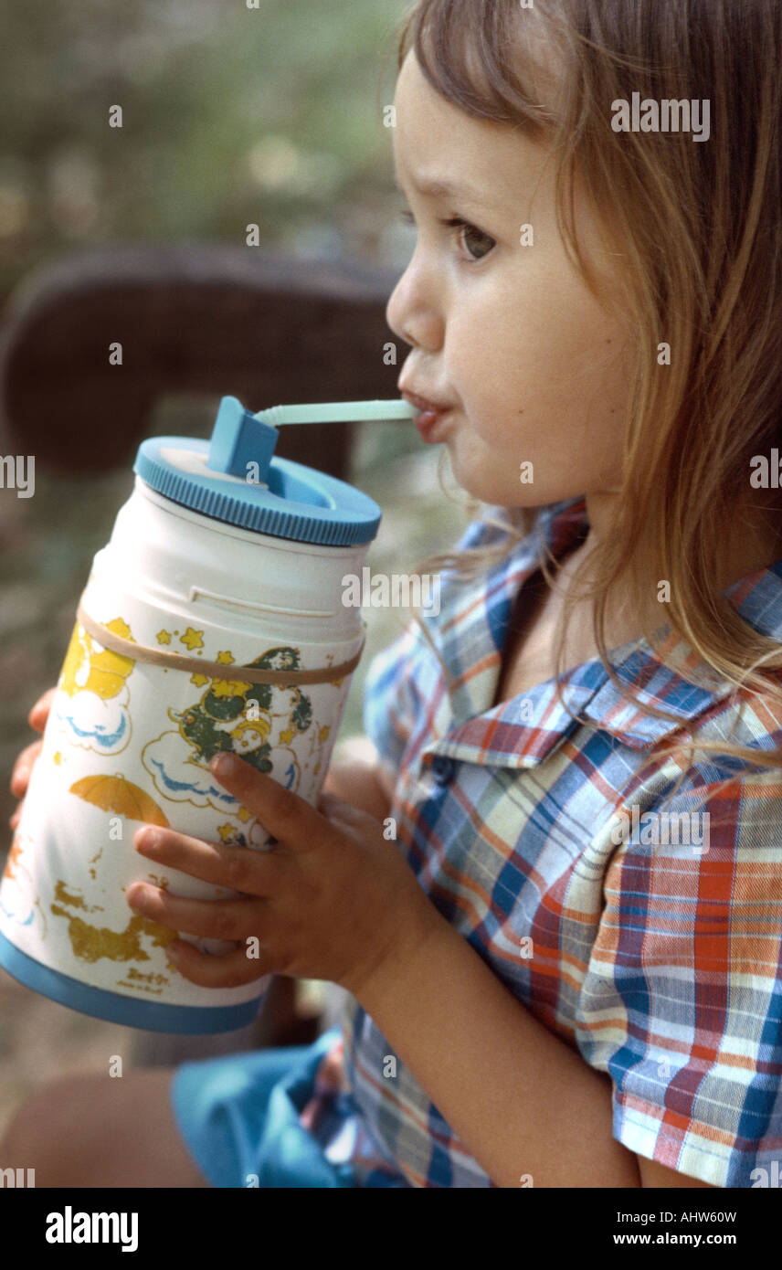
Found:
[[[613,819],[576,1040],[612,1078],[630,1151],[712,1186],[778,1186],[782,784],[717,791],[708,771],[663,812]]]

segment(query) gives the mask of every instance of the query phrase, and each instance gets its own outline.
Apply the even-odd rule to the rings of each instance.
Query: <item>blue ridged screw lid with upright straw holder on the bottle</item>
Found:
[[[377,503],[336,476],[274,458],[278,437],[226,396],[211,442],[152,437],[141,443],[133,471],[164,498],[225,525],[297,542],[371,542],[382,516]]]

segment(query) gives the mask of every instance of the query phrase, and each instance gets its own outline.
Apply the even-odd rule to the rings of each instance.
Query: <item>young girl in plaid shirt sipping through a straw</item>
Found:
[[[330,979],[341,1030],[58,1081],[0,1166],[38,1185],[769,1184],[781,52],[776,0],[408,15],[392,136],[418,241],[388,321],[424,439],[486,514],[420,566],[439,613],[371,667],[376,762],[335,762],[317,809],[229,763],[273,852],[137,845],[245,898],[128,893],[267,954],[185,945],[184,975]]]

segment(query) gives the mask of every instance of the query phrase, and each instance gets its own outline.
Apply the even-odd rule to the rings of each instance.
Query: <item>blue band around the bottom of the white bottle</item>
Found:
[[[4,970],[32,988],[42,997],[77,1010],[94,1019],[105,1019],[124,1027],[142,1027],[145,1031],[180,1033],[185,1036],[203,1036],[211,1033],[235,1031],[246,1027],[258,1017],[260,998],[244,1001],[239,1006],[162,1006],[156,1001],[137,1001],[121,997],[103,988],[71,979],[69,974],[52,970],[48,965],[20,952],[0,933],[0,965]]]

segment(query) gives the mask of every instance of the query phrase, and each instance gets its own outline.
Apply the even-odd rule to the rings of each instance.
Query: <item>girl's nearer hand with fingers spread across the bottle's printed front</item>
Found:
[[[185,941],[166,945],[187,979],[235,988],[286,974],[329,979],[358,997],[381,966],[396,964],[442,925],[380,820],[334,794],[322,792],[314,808],[232,754],[217,756],[209,767],[277,845],[256,851],[151,826],[138,831],[135,846],[147,860],[241,892],[231,899],[185,899],[150,883],[128,886],[128,903],[145,917],[188,935],[239,942],[221,956]],[[248,956],[251,936],[258,956]]]

